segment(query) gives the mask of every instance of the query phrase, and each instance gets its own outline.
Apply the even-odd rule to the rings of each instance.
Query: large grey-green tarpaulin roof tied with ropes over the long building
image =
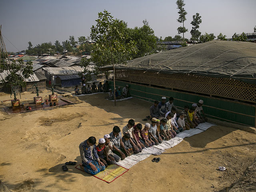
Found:
[[[190,73],[256,84],[256,43],[214,40],[136,58],[126,65],[117,65],[116,69]]]

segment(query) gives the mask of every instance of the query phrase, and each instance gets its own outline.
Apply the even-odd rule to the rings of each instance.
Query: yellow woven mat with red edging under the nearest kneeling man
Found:
[[[80,164],[76,166],[77,169],[84,171]],[[126,169],[122,166],[112,164],[109,165],[104,171],[99,172],[98,174],[94,175],[94,177],[105,181],[107,183],[111,183],[112,181],[116,180],[116,178],[120,177],[122,174],[127,172],[129,169]]]

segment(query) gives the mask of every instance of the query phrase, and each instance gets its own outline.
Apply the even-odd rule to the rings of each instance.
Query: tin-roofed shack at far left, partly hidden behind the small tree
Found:
[[[6,84],[1,83],[1,80],[4,80],[4,78],[8,75],[8,71],[5,70],[4,72],[0,73],[0,91],[1,92],[10,92],[10,87],[6,86]],[[46,77],[41,72],[34,72],[33,75],[31,75],[26,80],[26,87],[20,88],[22,91],[28,91],[32,92],[35,91],[36,88],[34,87],[34,84],[37,84],[39,90],[45,90],[46,89]]]

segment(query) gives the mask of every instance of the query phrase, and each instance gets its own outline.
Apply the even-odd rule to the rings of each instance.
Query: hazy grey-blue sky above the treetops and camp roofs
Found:
[[[220,32],[231,38],[236,32],[253,32],[256,25],[256,0],[184,0],[188,12],[184,26],[190,38],[192,16],[202,16],[199,31]],[[114,18],[124,20],[128,27],[149,22],[155,35],[162,38],[178,34],[176,0],[1,0],[0,24],[7,51],[26,50],[43,42],[60,43],[74,36],[90,36],[98,12],[107,10]],[[16,49],[7,39],[18,49]]]

